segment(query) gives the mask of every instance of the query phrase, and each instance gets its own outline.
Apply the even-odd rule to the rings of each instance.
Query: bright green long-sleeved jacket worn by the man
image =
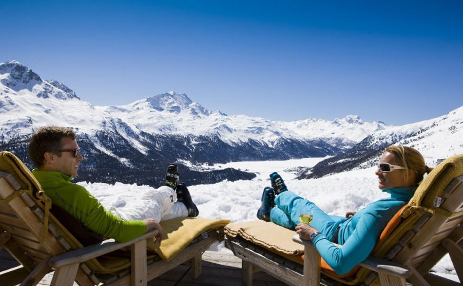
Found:
[[[82,186],[72,183],[72,177],[61,172],[32,170],[45,194],[54,205],[58,205],[78,219],[93,232],[126,242],[146,232],[143,221],[126,221],[106,211],[98,200]]]

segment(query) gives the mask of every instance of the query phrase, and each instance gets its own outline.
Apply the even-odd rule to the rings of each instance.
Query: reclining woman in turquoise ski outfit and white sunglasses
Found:
[[[295,229],[301,238],[312,241],[334,271],[345,274],[367,258],[388,221],[413,197],[424,173],[429,171],[417,150],[387,147],[375,174],[379,189],[390,197],[372,202],[358,212],[349,212],[346,217],[327,215],[314,203],[290,192],[283,179],[272,173],[272,188],[264,189],[257,217]],[[301,214],[312,215],[310,225],[299,223]]]

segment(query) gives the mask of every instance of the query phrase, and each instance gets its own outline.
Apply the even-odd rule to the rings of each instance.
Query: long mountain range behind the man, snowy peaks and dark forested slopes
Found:
[[[164,166],[172,161],[194,164],[324,157],[341,154],[368,138],[373,140],[372,134],[386,132],[395,134],[392,141],[402,139],[394,132],[387,133],[400,127],[364,122],[355,115],[333,121],[271,121],[209,111],[186,94],[173,91],[124,106],[92,106],[64,84],[44,80],[19,62],[1,63],[0,149],[13,151],[32,166],[27,143],[43,125],[77,131],[79,145],[87,153],[80,179],[112,182],[119,178],[152,185],[161,180]],[[415,127],[409,133],[417,132],[421,125]],[[252,176],[237,170],[227,171],[226,177],[222,170],[220,174],[199,174],[186,166],[183,169],[183,178],[187,182],[196,179],[195,183]]]

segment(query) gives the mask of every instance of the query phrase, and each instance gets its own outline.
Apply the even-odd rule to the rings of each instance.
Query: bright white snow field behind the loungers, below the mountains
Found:
[[[386,193],[378,189],[375,168],[343,172],[321,179],[296,180],[290,168],[311,167],[325,158],[309,158],[289,161],[253,161],[230,162],[209,166],[212,169],[233,167],[255,172],[252,180],[230,182],[224,180],[209,185],[189,186],[193,201],[196,203],[201,217],[228,218],[232,222],[256,219],[260,206],[262,190],[270,186],[269,174],[277,171],[282,175],[288,188],[296,194],[309,198],[330,215],[345,215],[347,211],[358,210],[368,203],[382,197]],[[78,177],[77,177],[78,179]],[[181,179],[181,174],[180,174]],[[136,184],[79,182],[106,207],[131,207],[140,202],[138,194],[150,189],[149,186]],[[223,243],[213,247],[214,250],[230,252]],[[455,269],[445,256],[432,271],[454,281],[459,281]]]

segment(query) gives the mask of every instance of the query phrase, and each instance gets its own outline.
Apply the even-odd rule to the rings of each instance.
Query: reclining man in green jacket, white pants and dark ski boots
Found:
[[[176,185],[178,173],[176,181],[171,180],[172,177],[166,179],[166,183],[170,182],[173,188],[162,186],[150,191],[143,196],[143,204],[136,210],[113,209],[117,215],[108,212],[84,187],[71,182],[77,176],[79,164],[84,159],[72,129],[40,127],[31,137],[28,153],[37,167],[32,170],[32,174],[53,205],[65,210],[83,226],[101,236],[126,242],[155,229],[158,234],[153,240],[161,241],[163,233],[159,221],[162,218],[199,214],[185,184]],[[171,172],[176,173],[176,166]],[[168,171],[168,175],[172,173]]]

